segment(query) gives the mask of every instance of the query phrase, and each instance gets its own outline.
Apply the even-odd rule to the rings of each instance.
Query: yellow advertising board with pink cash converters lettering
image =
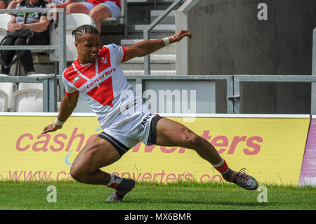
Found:
[[[53,116],[54,115],[54,116]],[[41,134],[51,116],[0,116],[0,176],[10,180],[70,180],[81,148],[102,130],[94,116],[73,116],[63,128]],[[310,118],[169,117],[212,143],[228,166],[246,168],[261,183],[298,185]],[[103,171],[138,181],[222,181],[194,150],[138,143]]]

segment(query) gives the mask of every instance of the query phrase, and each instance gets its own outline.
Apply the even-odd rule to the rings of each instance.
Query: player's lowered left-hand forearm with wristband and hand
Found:
[[[79,92],[76,92],[72,95],[65,94],[60,104],[60,110],[57,117],[58,121],[65,122],[68,119],[68,117],[70,117],[70,115],[74,111],[74,108],[76,108],[77,106],[78,98],[79,98]],[[44,128],[42,133],[56,131],[61,128],[62,128],[62,124],[61,125],[58,125],[56,123],[50,124]]]

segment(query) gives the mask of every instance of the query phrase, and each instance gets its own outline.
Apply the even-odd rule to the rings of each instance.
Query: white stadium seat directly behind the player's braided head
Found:
[[[96,23],[93,18],[84,13],[72,13],[66,15],[66,60],[74,61],[77,60],[77,48],[74,46],[74,37],[72,36],[72,30],[76,29],[81,25],[93,25],[96,27]],[[55,28],[51,32],[51,45],[58,45],[59,40],[59,29]],[[58,61],[58,50],[50,53],[49,59],[51,61]]]

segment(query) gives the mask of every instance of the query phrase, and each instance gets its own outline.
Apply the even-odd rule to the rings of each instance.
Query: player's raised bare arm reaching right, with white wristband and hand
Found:
[[[169,37],[169,44],[176,43],[183,39],[183,37],[192,38],[192,34],[187,30],[180,30]],[[166,46],[163,39],[140,41],[138,44],[126,47],[126,56],[124,62],[131,60],[135,57],[143,57],[154,51],[158,51],[160,48]]]

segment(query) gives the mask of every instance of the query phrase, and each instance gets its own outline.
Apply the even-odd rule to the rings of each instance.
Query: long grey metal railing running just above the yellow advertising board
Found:
[[[57,109],[57,80],[62,75],[49,74],[46,77],[0,77],[0,82],[31,82],[43,84],[43,111],[58,112]],[[138,91],[143,94],[146,80],[178,80],[178,81],[216,81],[226,80],[227,113],[240,113],[240,84],[244,81],[254,82],[316,82],[316,76],[307,75],[177,75],[177,76],[126,76],[128,81],[138,85]],[[313,112],[311,112],[313,114]]]

